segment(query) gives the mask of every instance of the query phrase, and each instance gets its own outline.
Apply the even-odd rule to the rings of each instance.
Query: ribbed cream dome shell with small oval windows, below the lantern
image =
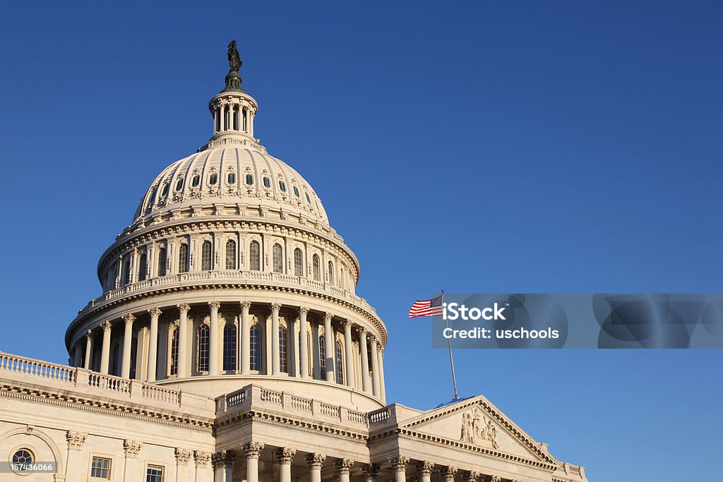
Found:
[[[169,165],[150,184],[134,223],[174,209],[236,204],[329,225],[316,192],[298,172],[265,152],[239,145],[209,148]]]

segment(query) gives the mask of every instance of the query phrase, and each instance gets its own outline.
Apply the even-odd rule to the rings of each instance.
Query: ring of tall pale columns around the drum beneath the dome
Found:
[[[251,373],[251,340],[250,340],[250,322],[249,322],[249,309],[251,308],[250,301],[241,301],[241,326],[240,328],[240,339],[241,339],[241,374],[248,375]],[[208,374],[215,376],[219,374],[218,367],[220,366],[220,330],[218,322],[218,310],[221,308],[221,304],[218,301],[210,301],[208,303],[210,309],[210,326],[209,326],[209,358],[208,358]],[[271,353],[270,353],[270,374],[280,375],[281,374],[281,347],[279,343],[279,312],[281,311],[281,304],[272,303],[271,305]],[[191,309],[189,304],[178,304],[177,309],[179,310],[179,327],[178,327],[178,356],[176,364],[176,374],[179,378],[184,378],[190,375],[190,367],[188,366],[188,312]],[[307,315],[310,309],[306,306],[301,306],[298,309],[300,332],[307,333],[309,328],[309,322]],[[156,363],[158,360],[158,319],[161,316],[161,309],[152,308],[148,310],[150,314],[150,343],[148,352],[148,363],[147,363],[147,381],[154,382],[156,376]],[[122,344],[122,356],[121,356],[121,377],[129,378],[130,367],[131,367],[131,345],[132,345],[132,334],[133,334],[133,323],[136,320],[133,314],[129,313],[122,317],[124,322],[124,336]],[[335,383],[336,377],[336,364],[333,362],[335,354],[335,340],[333,337],[332,330],[332,319],[333,314],[326,312],[324,314],[324,340],[325,340],[325,374],[324,379],[327,382]],[[289,333],[295,333],[294,323],[290,320],[291,330]],[[111,350],[111,322],[104,322],[100,324],[103,330],[103,343],[100,352],[100,373],[108,374],[108,366],[110,362],[110,350]],[[344,381],[348,387],[354,386],[354,353],[352,350],[352,337],[351,337],[352,323],[349,320],[343,322],[343,337],[344,337]],[[374,395],[380,398],[380,400],[386,400],[385,383],[384,383],[384,352],[382,345],[373,335],[367,333],[367,329],[361,326],[357,326],[356,330],[359,334],[359,352],[361,355],[361,385],[362,390],[369,395]],[[299,376],[302,379],[312,378],[309,367],[309,345],[307,343],[307,337],[301,336],[301,343],[299,344],[299,350],[292,350],[293,366],[299,366]],[[318,337],[312,337],[312,340],[316,338],[315,343],[318,343]],[[296,338],[294,337],[294,345],[296,345]],[[168,343],[170,347],[170,343]],[[74,366],[80,366],[82,359],[82,347],[80,343],[77,343],[74,348]],[[371,355],[371,366],[369,366],[369,353]],[[85,369],[90,369],[90,361],[93,355],[93,333],[88,330],[85,337]],[[268,368],[268,367],[267,367]],[[371,375],[370,375],[371,371]]]

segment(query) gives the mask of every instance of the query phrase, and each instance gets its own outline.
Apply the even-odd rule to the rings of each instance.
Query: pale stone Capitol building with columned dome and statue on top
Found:
[[[387,403],[359,261],[254,137],[235,46],[229,61],[213,137],[101,257],[70,365],[0,353],[0,461],[56,465],[0,480],[586,481],[482,396]]]

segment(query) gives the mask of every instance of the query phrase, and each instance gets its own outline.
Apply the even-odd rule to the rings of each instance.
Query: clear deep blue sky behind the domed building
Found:
[[[95,264],[210,135],[239,43],[257,136],[320,194],[388,325],[390,400],[451,397],[416,298],[721,290],[720,1],[4,1],[0,349],[64,362]],[[103,2],[105,3],[105,2]],[[718,480],[721,350],[466,350],[594,482]]]

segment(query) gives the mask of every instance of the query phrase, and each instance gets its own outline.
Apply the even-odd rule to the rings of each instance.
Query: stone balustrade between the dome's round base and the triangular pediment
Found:
[[[217,397],[216,415],[223,416],[252,406],[254,408],[268,407],[289,414],[298,413],[299,416],[318,416],[321,419],[327,418],[329,421],[336,421],[345,425],[351,423],[358,426],[369,426],[369,416],[367,416],[366,412],[351,410],[342,405],[333,405],[312,398],[299,397],[287,392],[269,390],[254,384]],[[372,413],[378,412],[380,410],[375,410]]]

